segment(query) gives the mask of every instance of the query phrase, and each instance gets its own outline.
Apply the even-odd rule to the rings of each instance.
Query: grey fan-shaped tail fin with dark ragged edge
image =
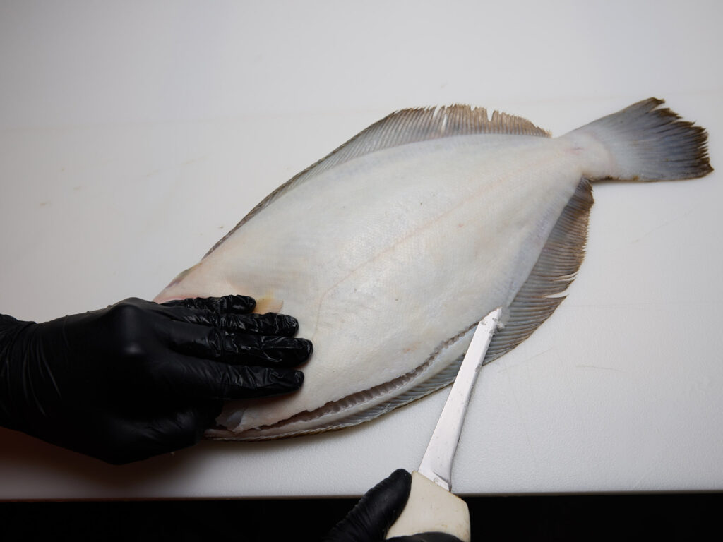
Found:
[[[668,108],[659,108],[662,103],[649,98],[567,134],[576,145],[598,151],[585,176],[591,180],[667,181],[713,171],[706,130],[679,120]]]

